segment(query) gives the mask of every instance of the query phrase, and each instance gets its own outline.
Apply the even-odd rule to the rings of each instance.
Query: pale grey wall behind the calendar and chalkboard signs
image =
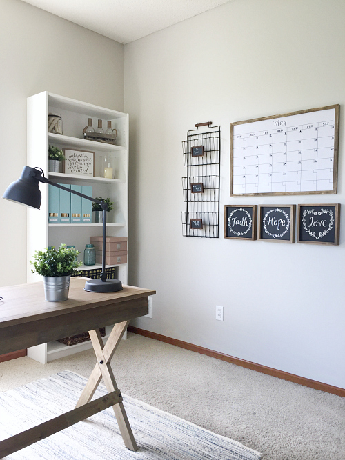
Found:
[[[345,388],[345,208],[340,246],[223,238],[224,204],[345,206],[344,20],[343,0],[233,0],[125,46],[129,280],[157,290],[135,326]],[[335,103],[337,195],[229,196],[231,122]],[[204,121],[222,128],[219,239],[182,237],[181,141]]]

